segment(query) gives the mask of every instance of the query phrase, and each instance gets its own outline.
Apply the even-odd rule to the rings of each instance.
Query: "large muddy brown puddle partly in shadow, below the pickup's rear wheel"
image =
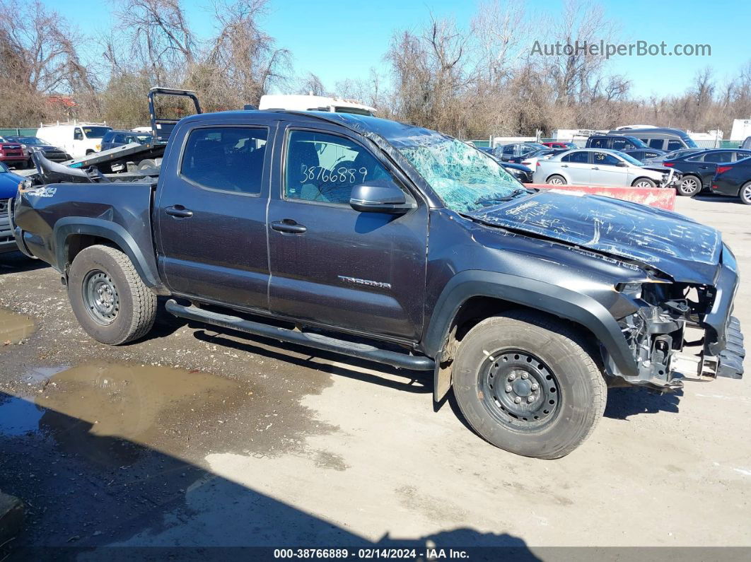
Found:
[[[115,467],[137,461],[137,445],[194,461],[248,451],[264,422],[249,383],[200,371],[101,362],[38,368],[23,380],[35,383],[35,398],[0,401],[0,433],[39,431]]]

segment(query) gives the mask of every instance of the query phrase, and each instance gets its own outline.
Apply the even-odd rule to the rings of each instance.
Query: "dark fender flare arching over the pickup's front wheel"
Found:
[[[591,296],[536,279],[469,269],[454,275],[442,290],[423,338],[427,356],[440,358],[451,322],[460,307],[474,296],[514,302],[581,324],[608,351],[620,374],[638,376],[638,365],[613,315]],[[436,361],[436,388],[439,380]],[[442,381],[446,387],[447,381]]]

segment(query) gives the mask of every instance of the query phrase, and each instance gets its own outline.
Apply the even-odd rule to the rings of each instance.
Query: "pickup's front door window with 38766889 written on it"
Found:
[[[349,205],[352,188],[373,179],[391,179],[391,175],[354,141],[313,131],[288,135],[286,199]]]

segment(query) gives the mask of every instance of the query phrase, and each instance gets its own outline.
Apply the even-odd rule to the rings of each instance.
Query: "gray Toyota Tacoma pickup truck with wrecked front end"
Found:
[[[249,110],[182,119],[151,176],[35,158],[17,242],[107,344],[169,296],[178,317],[432,371],[436,402],[453,387],[481,437],[540,458],[592,433],[608,386],[743,373],[719,232],[526,189],[435,131]]]

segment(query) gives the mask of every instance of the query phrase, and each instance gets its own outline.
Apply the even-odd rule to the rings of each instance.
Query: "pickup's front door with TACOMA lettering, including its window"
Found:
[[[354,185],[394,179],[377,152],[323,124],[279,133],[275,153],[284,171],[269,204],[269,305],[299,320],[416,341],[427,206],[407,190],[418,206],[406,215],[349,205]]]

